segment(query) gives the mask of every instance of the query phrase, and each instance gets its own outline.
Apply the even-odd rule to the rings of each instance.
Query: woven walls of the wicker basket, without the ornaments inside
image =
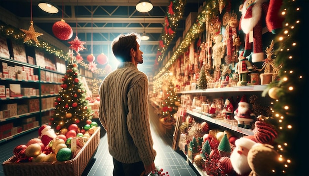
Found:
[[[74,159],[68,161],[15,163],[16,156],[2,163],[5,176],[81,176],[100,142],[100,127],[91,135]]]

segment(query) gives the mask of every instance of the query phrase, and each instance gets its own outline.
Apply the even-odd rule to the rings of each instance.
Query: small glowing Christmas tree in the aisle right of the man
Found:
[[[179,98],[175,92],[174,84],[170,81],[168,88],[166,88],[166,98],[162,104],[163,116],[170,115],[166,118],[166,120],[173,119],[174,114],[177,112],[177,103],[179,103]]]

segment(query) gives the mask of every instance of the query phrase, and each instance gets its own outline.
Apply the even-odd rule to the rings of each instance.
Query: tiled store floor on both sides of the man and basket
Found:
[[[182,151],[172,149],[173,131],[164,130],[159,123],[158,116],[154,114],[154,109],[150,106],[151,130],[154,139],[154,149],[157,152],[155,165],[162,168],[163,172],[168,172],[170,176],[199,176],[187,163]],[[7,141],[0,145],[0,162],[4,162],[13,155],[13,148],[20,144],[26,144],[32,138],[38,137],[38,132],[32,132],[16,139]],[[108,152],[107,137],[104,129],[101,129],[101,140],[93,159],[82,176],[112,176],[113,160]],[[0,166],[0,176],[4,176],[2,165]]]

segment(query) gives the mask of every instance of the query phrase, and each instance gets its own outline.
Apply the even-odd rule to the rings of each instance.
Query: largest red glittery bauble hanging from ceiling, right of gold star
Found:
[[[73,30],[63,19],[54,23],[52,27],[54,35],[60,40],[69,40],[73,36]]]

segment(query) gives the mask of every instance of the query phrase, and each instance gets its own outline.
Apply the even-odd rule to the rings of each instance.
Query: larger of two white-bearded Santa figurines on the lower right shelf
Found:
[[[238,108],[234,111],[234,118],[237,120],[238,127],[251,129],[251,122],[255,118],[255,114],[250,109],[247,98],[243,95],[238,103]]]

